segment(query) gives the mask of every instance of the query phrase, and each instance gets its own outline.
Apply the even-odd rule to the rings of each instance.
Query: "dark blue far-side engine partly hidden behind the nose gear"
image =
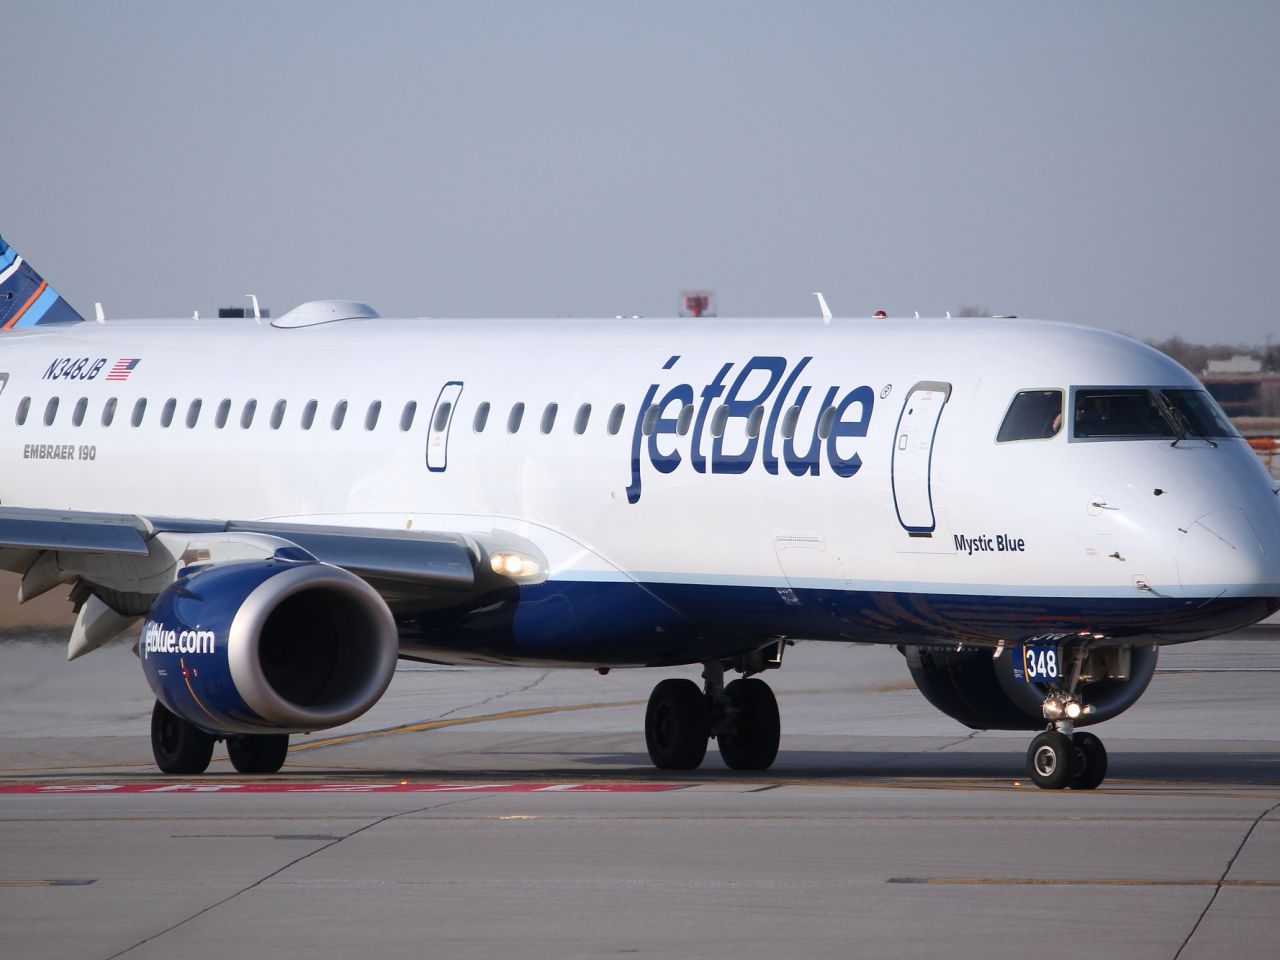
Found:
[[[1046,687],[1015,673],[1018,655],[1006,650],[965,648],[901,648],[911,680],[925,699],[948,717],[974,730],[1042,730]],[[1091,650],[1083,671],[1080,700],[1087,712],[1075,726],[1117,717],[1147,690],[1156,672],[1155,646]]]

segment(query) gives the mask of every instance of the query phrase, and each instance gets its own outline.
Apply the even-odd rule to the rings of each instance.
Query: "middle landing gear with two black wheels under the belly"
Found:
[[[781,648],[780,648],[781,650]],[[781,654],[772,664],[781,662]],[[662,771],[701,765],[707,744],[719,744],[721,758],[735,771],[768,769],[778,755],[782,723],[778,701],[758,677],[724,684],[724,664],[704,664],[704,686],[691,680],[663,680],[649,696],[644,735],[649,759]]]

